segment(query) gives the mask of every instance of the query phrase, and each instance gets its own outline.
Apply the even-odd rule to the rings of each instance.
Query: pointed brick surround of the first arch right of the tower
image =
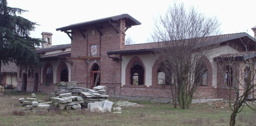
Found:
[[[139,59],[139,57],[134,56],[127,64],[125,69],[125,85],[130,85],[131,83],[131,68],[134,65],[134,63],[138,61],[141,66],[144,69],[144,77],[143,77],[143,85],[145,85],[145,65],[142,60]]]

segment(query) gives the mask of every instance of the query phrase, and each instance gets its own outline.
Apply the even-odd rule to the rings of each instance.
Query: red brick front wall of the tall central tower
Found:
[[[119,23],[119,28],[124,32],[124,20],[119,20],[117,23]],[[112,61],[106,53],[109,50],[122,47],[124,34],[121,32],[117,34],[108,22],[102,23],[99,26],[103,26],[103,29],[100,29],[103,36],[100,36],[95,27],[84,27],[86,32],[83,33],[86,35],[86,38],[83,38],[80,31],[72,31],[71,57],[91,57],[91,45],[97,45],[97,57],[100,57],[100,60],[90,60],[88,63],[86,60],[72,60],[71,81],[85,83],[84,86],[87,88],[91,85],[91,70],[95,63],[101,66],[100,83],[121,83],[121,62]],[[120,55],[111,55],[111,57],[120,58]]]

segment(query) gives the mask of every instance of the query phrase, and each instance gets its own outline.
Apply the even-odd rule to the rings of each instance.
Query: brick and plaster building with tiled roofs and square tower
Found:
[[[44,66],[33,72],[20,70],[17,89],[51,92],[56,82],[75,81],[84,88],[106,86],[111,95],[170,97],[170,85],[158,81],[160,63],[154,55],[154,43],[124,45],[128,28],[140,24],[132,16],[122,14],[57,28],[67,33],[71,44],[38,49]],[[51,44],[52,34],[42,35]],[[220,70],[224,64],[218,65],[218,57],[248,56],[244,41],[250,45],[250,53],[256,50],[255,38],[247,33],[219,35],[216,41],[221,45],[216,48],[218,53],[204,60],[207,75],[206,83],[197,88],[200,98],[228,98],[225,73]]]

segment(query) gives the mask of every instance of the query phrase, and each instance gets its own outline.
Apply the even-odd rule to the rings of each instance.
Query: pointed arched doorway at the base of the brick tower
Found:
[[[94,64],[92,67],[92,83],[91,88],[100,85],[100,66],[98,64]]]

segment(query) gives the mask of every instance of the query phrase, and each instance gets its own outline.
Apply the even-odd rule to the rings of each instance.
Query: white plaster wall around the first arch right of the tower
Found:
[[[152,66],[154,65],[157,57],[156,55],[123,55],[122,56],[122,70],[121,70],[121,82],[125,85],[125,69],[128,62],[134,57],[139,57],[145,66],[145,85],[152,85]]]

